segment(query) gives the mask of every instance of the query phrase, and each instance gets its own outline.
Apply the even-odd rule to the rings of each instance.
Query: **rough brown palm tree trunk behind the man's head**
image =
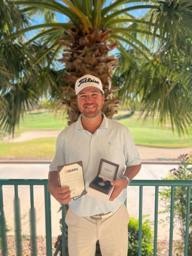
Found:
[[[108,117],[117,113],[119,100],[114,95],[119,87],[112,87],[112,68],[118,66],[114,56],[109,56],[109,51],[118,46],[116,42],[109,42],[110,31],[94,29],[89,35],[81,36],[80,31],[68,29],[69,40],[60,40],[66,49],[61,62],[65,62],[63,80],[68,86],[62,87],[65,98],[62,103],[67,105],[68,125],[76,122],[80,115],[75,95],[75,82],[85,74],[92,74],[100,78],[105,93],[105,103],[102,111]]]

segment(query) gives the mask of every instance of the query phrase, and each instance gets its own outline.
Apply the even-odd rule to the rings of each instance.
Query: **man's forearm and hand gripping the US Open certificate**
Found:
[[[59,203],[65,204],[71,201],[71,190],[69,190],[69,187],[59,187],[58,174],[56,171],[49,172],[47,189]]]

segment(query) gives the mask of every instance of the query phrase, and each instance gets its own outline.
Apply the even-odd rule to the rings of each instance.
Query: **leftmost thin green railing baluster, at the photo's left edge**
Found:
[[[2,256],[7,255],[7,237],[6,237],[6,224],[5,224],[5,215],[4,215],[4,205],[3,205],[3,191],[2,185],[0,185],[0,238],[2,245]]]

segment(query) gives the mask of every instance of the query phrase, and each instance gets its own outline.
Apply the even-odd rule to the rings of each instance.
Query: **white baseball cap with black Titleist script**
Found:
[[[76,80],[75,94],[77,95],[83,88],[88,86],[96,87],[101,91],[101,93],[104,94],[101,80],[96,76],[92,76],[91,74],[86,74],[85,76],[82,76]]]

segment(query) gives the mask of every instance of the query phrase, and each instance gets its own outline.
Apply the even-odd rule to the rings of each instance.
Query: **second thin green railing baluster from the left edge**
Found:
[[[22,256],[21,214],[20,214],[20,200],[18,197],[18,185],[14,185],[14,225],[15,225],[17,256]]]

